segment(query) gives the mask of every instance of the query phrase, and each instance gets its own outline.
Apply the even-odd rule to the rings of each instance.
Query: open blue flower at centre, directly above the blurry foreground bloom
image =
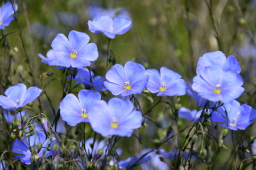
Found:
[[[116,64],[106,73],[106,88],[113,95],[121,97],[141,94],[146,88],[149,75],[145,75],[145,68],[139,63],[128,61],[125,67]]]

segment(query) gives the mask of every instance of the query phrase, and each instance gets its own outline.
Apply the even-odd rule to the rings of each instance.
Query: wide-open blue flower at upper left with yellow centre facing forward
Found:
[[[97,46],[89,43],[90,37],[83,32],[71,31],[68,39],[59,33],[52,41],[53,53],[64,67],[89,66],[91,62],[98,58]]]

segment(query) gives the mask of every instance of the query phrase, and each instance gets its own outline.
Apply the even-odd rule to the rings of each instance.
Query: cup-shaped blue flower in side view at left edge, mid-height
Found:
[[[38,99],[42,90],[38,87],[27,89],[25,84],[19,83],[6,89],[5,95],[0,95],[0,106],[3,109],[18,109]]]

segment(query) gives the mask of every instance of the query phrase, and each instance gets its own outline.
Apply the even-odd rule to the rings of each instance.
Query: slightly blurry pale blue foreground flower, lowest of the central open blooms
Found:
[[[130,137],[133,129],[142,124],[141,112],[133,109],[133,103],[128,100],[112,98],[108,104],[101,100],[93,105],[88,118],[92,129],[104,137]]]

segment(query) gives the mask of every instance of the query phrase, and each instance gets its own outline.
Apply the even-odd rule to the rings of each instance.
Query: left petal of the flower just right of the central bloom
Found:
[[[161,86],[159,71],[156,69],[147,69],[145,74],[150,76],[147,83],[147,90],[151,93],[159,92],[159,87]]]

